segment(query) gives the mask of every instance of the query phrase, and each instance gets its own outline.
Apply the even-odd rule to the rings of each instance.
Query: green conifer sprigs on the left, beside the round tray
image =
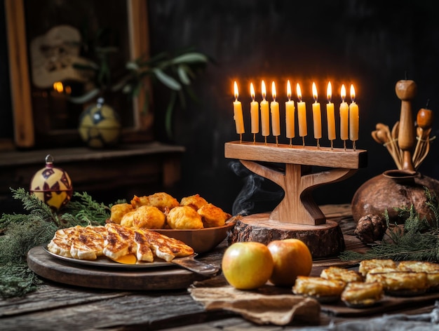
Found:
[[[28,214],[4,214],[0,217],[0,296],[20,297],[36,290],[43,281],[29,269],[27,252],[48,243],[55,231],[76,225],[101,225],[111,215],[111,205],[97,203],[86,192],[74,192],[72,201],[60,212],[25,189],[11,189]],[[116,203],[126,202],[124,200]]]

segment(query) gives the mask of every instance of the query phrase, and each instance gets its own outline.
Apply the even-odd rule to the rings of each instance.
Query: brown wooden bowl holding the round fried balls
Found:
[[[194,248],[198,254],[208,252],[217,247],[227,237],[227,231],[234,227],[235,222],[229,222],[223,227],[210,227],[204,229],[154,229],[165,236],[178,239]]]

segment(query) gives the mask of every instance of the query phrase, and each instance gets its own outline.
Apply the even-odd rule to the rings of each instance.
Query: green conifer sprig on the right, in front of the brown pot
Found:
[[[393,208],[400,217],[405,218],[403,227],[391,224],[389,213],[384,212],[388,231],[385,240],[373,245],[365,253],[346,250],[339,255],[344,261],[361,261],[364,259],[393,259],[395,261],[439,261],[439,203],[438,198],[426,187],[426,205],[432,214],[431,221],[421,217],[413,205],[410,208]]]

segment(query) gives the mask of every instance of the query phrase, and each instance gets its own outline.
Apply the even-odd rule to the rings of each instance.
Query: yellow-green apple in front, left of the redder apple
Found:
[[[227,282],[239,290],[259,288],[269,280],[273,257],[263,243],[243,241],[231,244],[222,257]]]

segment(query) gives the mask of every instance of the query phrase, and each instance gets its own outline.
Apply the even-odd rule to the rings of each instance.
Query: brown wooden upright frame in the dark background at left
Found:
[[[13,140],[15,147],[31,148],[35,147],[36,139],[27,56],[25,0],[5,0],[4,3],[14,125]],[[130,58],[135,59],[141,55],[149,56],[147,0],[126,0],[126,3],[128,6]],[[150,86],[149,90],[151,90]],[[152,140],[153,115],[151,112],[142,112],[144,102],[144,93],[135,98],[133,102],[133,122],[135,125],[132,128],[123,129],[123,142]],[[59,135],[61,136],[63,133],[59,133]]]

